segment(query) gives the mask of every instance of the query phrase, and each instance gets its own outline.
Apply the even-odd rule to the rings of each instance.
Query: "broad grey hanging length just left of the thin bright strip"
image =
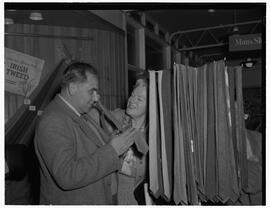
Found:
[[[238,198],[237,190],[233,190],[236,184],[236,172],[234,155],[231,145],[231,134],[229,128],[228,100],[226,98],[225,65],[224,62],[216,63],[215,78],[217,97],[216,114],[216,141],[217,141],[217,164],[218,164],[218,197],[225,203],[229,199]],[[236,196],[234,197],[232,192]]]

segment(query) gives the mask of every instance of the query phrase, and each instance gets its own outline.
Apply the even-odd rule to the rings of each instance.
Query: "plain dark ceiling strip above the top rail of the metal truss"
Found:
[[[210,8],[209,8],[210,9]],[[145,13],[157,21],[169,32],[211,27],[232,23],[261,20],[261,9],[177,9],[146,10]]]

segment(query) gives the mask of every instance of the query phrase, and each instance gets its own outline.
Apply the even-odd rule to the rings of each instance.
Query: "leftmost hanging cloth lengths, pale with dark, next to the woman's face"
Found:
[[[169,202],[172,197],[171,71],[149,72],[149,177],[150,190]]]

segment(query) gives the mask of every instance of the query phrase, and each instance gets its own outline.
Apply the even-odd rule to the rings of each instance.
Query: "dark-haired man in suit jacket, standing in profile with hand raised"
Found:
[[[119,156],[133,143],[134,129],[108,141],[84,119],[97,90],[95,69],[73,63],[45,109],[35,135],[40,204],[112,204],[111,174],[121,168]]]

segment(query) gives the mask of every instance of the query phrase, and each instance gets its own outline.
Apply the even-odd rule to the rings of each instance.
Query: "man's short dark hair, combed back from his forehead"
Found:
[[[72,82],[84,82],[87,80],[86,72],[98,77],[96,69],[91,65],[83,62],[74,62],[70,64],[64,74],[61,86],[65,88]]]

